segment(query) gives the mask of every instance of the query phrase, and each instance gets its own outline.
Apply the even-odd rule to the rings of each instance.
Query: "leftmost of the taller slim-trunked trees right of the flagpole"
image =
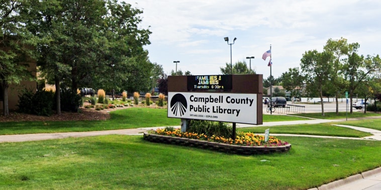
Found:
[[[332,54],[330,52],[308,51],[303,54],[301,68],[307,83],[307,90],[319,92],[324,115],[323,85],[328,82],[332,69]]]

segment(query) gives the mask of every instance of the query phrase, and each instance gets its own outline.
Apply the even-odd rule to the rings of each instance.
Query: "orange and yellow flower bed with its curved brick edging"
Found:
[[[288,142],[280,141],[273,136],[264,142],[263,135],[253,133],[240,133],[233,140],[214,135],[208,137],[205,134],[180,132],[179,129],[173,131],[157,129],[156,131],[145,132],[143,138],[151,142],[172,143],[248,155],[287,152],[291,149],[291,144]]]

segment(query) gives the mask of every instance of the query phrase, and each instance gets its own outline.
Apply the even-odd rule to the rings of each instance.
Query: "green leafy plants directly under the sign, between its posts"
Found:
[[[230,137],[233,134],[232,127],[224,122],[206,120],[189,120],[188,122],[189,128],[187,132],[224,137]]]

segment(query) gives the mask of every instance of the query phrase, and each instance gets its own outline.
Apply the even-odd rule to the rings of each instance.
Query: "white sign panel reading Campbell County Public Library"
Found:
[[[257,95],[168,92],[168,117],[257,124]]]

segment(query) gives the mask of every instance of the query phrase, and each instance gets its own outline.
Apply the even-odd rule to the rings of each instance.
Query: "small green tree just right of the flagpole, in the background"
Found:
[[[284,72],[281,78],[283,88],[291,92],[291,97],[296,95],[295,89],[300,89],[304,81],[298,67],[289,68],[289,71]],[[292,102],[294,103],[294,98],[292,98]]]

